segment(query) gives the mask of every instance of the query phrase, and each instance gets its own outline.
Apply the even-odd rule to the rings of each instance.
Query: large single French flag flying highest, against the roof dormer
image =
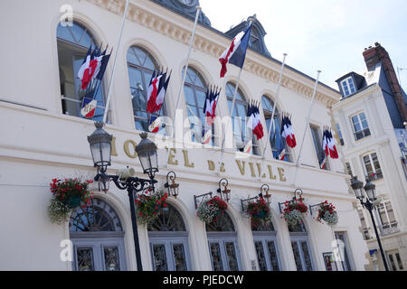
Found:
[[[243,68],[247,47],[249,45],[249,41],[251,40],[251,25],[252,24],[250,24],[245,31],[236,35],[231,46],[223,52],[221,58],[219,59],[222,64],[221,78],[223,78],[228,71],[226,67],[228,63]]]

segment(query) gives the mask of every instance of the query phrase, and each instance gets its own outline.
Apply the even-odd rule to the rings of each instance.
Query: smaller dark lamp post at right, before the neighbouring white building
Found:
[[[351,186],[355,192],[356,198],[360,200],[360,203],[362,204],[364,209],[368,210],[370,213],[370,218],[372,219],[372,223],[374,226],[374,233],[376,234],[377,244],[379,244],[380,252],[382,254],[384,268],[386,269],[386,271],[389,271],[389,266],[387,266],[387,261],[386,261],[385,255],[384,255],[382,242],[380,241],[379,232],[377,231],[376,223],[374,221],[374,215],[373,215],[374,207],[378,203],[377,198],[376,198],[376,191],[375,191],[376,186],[374,185],[373,182],[370,181],[369,178],[366,178],[366,184],[364,186],[363,182],[357,180],[357,176],[355,176],[353,178]],[[364,191],[367,194],[367,198],[365,201],[364,201],[364,197],[365,197]]]

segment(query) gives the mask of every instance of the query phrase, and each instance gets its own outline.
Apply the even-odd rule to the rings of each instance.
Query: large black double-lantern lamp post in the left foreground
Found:
[[[133,238],[136,249],[137,271],[143,271],[140,254],[140,244],[138,241],[137,217],[134,204],[134,193],[145,191],[147,188],[154,191],[156,180],[156,172],[158,172],[158,160],[156,154],[156,144],[147,139],[147,133],[140,134],[142,140],[136,147],[136,152],[140,160],[143,172],[148,175],[149,180],[139,179],[133,176],[134,171],[128,170],[128,173],[120,173],[120,175],[107,174],[108,167],[111,165],[111,140],[112,135],[109,135],[104,129],[103,123],[95,123],[96,130],[92,135],[88,136],[90,144],[90,152],[92,154],[93,163],[98,168],[98,174],[95,181],[99,182],[102,191],[109,191],[109,182],[113,181],[119,190],[128,191],[128,200],[130,202],[131,222],[133,225]]]

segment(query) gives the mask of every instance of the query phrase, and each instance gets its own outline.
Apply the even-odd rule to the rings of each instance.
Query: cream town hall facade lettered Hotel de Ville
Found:
[[[104,47],[106,43],[109,49],[114,46],[113,51],[118,51],[105,126],[114,135],[111,174],[129,166],[142,177],[135,147],[140,132],[148,130],[145,91],[154,70],[172,70],[162,114],[175,118],[174,127],[181,128],[174,137],[168,125],[157,133],[161,138],[153,134],[149,137],[159,147],[157,187],[163,187],[167,172],[174,171],[179,196],[168,199],[160,221],[148,228],[138,226],[144,270],[366,268],[367,247],[359,230],[357,200],[349,193],[344,164],[329,160],[327,169],[320,169],[322,127],[332,123],[331,107],[339,101],[340,94],[319,83],[311,126],[306,127],[315,79],[288,66],[282,78],[280,100],[275,103],[281,62],[265,48],[265,31],[257,19],[232,115],[236,120],[232,126],[234,137],[227,140],[231,147],[221,152],[222,134],[217,125],[213,127],[211,144],[202,147],[200,131],[196,133],[191,127],[196,126],[196,118],[202,117],[204,94],[211,85],[222,88],[218,118],[229,115],[228,103],[232,101],[239,70],[230,65],[226,78],[220,79],[218,58],[230,45],[233,34],[246,26],[241,24],[240,29],[221,33],[202,14],[185,87],[180,88],[194,24],[191,15],[198,2],[130,1],[118,49],[126,1],[2,3],[0,23],[8,29],[1,30],[7,45],[0,56],[0,269],[137,270],[127,193],[114,185],[108,192],[100,192],[94,184],[90,208],[75,211],[70,221],[55,225],[47,214],[52,196],[49,183],[53,178],[91,179],[96,174],[87,136],[95,129],[94,121],[100,121],[104,113],[113,57],[95,94],[98,107],[92,119],[80,117],[83,94],[76,75],[90,45]],[[180,90],[181,109],[173,117]],[[277,129],[270,140],[254,140],[253,154],[243,154],[241,143],[251,135],[242,129],[244,123],[239,125],[238,117],[245,117],[251,100],[260,102],[264,126],[270,124],[270,112],[277,106],[273,120]],[[279,137],[279,116],[284,111],[293,116],[298,142],[308,130],[298,166],[299,147],[288,148],[283,161],[277,157],[279,149],[285,147]],[[260,152],[265,145],[267,154],[262,160]],[[216,194],[222,178],[228,180],[231,190],[229,209],[218,223],[205,225],[196,217],[194,196],[210,191]],[[262,184],[268,184],[272,193],[272,224],[268,228],[251,228],[251,220],[241,212],[241,200],[257,196]],[[317,222],[314,211],[302,219],[300,227],[289,229],[281,219],[280,204],[291,200],[296,189],[303,191],[308,206],[325,200],[334,203],[339,217],[336,226]],[[71,260],[67,257],[70,254],[63,253],[70,252],[70,248]],[[336,262],[328,262],[333,256]]]

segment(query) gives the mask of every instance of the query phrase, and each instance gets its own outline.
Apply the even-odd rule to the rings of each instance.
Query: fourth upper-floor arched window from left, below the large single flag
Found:
[[[226,97],[228,98],[229,111],[232,110],[233,94],[235,89],[236,86],[233,83],[228,82],[226,84]],[[238,151],[243,152],[245,144],[251,140],[253,144],[252,154],[260,155],[257,139],[246,126],[247,107],[248,104],[246,99],[244,98],[241,89],[238,89],[232,112],[234,139],[236,141]]]

